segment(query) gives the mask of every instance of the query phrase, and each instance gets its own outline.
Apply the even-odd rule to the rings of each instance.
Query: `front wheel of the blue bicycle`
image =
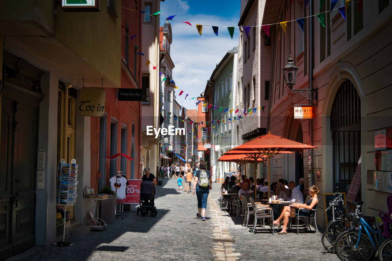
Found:
[[[358,235],[359,232],[357,230],[347,230],[341,233],[336,239],[335,252],[340,260],[368,261],[373,258],[375,250],[369,237],[365,234],[361,234],[361,238],[358,242]],[[357,242],[358,246],[354,249]]]

